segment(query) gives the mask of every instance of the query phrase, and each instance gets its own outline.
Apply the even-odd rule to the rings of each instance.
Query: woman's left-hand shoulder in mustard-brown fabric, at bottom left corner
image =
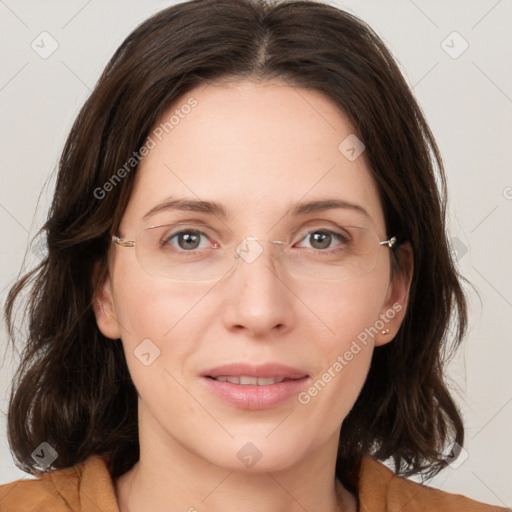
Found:
[[[112,478],[97,455],[71,468],[0,486],[0,512],[80,512],[91,505],[118,512]]]

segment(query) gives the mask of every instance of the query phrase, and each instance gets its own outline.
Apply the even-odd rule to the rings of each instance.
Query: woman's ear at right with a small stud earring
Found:
[[[396,272],[388,286],[386,299],[379,315],[379,319],[384,325],[374,337],[374,346],[376,347],[389,343],[396,336],[402,325],[409,302],[409,291],[414,271],[411,244],[406,242],[397,251],[400,270]],[[381,323],[379,322],[378,325],[380,327]],[[389,332],[386,332],[388,330]]]

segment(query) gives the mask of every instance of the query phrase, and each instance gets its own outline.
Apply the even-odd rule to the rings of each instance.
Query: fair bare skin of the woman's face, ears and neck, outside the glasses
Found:
[[[325,198],[363,206],[381,240],[393,235],[364,153],[352,162],[338,150],[353,128],[320,92],[276,81],[207,85],[169,113],[190,96],[198,105],[141,162],[119,236],[132,240],[149,225],[194,218],[226,239],[283,240],[314,220],[329,226],[339,215],[362,218],[339,209],[287,215],[298,201]],[[171,195],[219,202],[229,215],[221,222],[162,211],[143,221]],[[394,280],[387,248],[371,272],[337,283],[290,276],[266,250],[205,284],[148,275],[135,249],[113,246],[95,312],[106,336],[122,338],[139,393],[140,461],[116,482],[121,512],[355,511],[355,497],[334,478],[339,432],[374,346],[393,339],[405,314],[412,256],[400,250],[406,271]],[[233,361],[276,361],[314,382],[396,303],[403,309],[386,323],[390,332],[361,345],[307,405],[292,397],[242,410],[213,395],[199,376]],[[134,350],[148,338],[160,356],[145,366]],[[237,457],[248,442],[262,454],[250,468]]]

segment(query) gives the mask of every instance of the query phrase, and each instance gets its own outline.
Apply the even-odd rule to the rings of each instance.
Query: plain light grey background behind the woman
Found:
[[[0,0],[2,304],[45,217],[78,109],[128,33],[172,3]],[[466,421],[468,458],[430,485],[512,507],[512,0],[331,3],[376,30],[413,87],[444,157],[453,247],[482,298],[469,289],[470,333],[449,366]],[[31,48],[34,40],[42,46],[43,31],[58,43],[46,59]],[[450,36],[453,31],[463,39]],[[458,55],[464,40],[469,47]],[[45,41],[48,49],[51,41]],[[26,264],[36,261],[29,250]],[[6,345],[1,329],[0,359]],[[8,351],[0,367],[4,412],[14,366]],[[12,463],[2,414],[0,483],[23,476]]]

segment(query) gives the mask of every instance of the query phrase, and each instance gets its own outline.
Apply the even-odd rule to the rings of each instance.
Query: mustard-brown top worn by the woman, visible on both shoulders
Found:
[[[358,474],[359,512],[506,512],[511,509],[427,487],[364,457]],[[114,482],[100,456],[31,480],[0,486],[0,512],[119,512]]]

